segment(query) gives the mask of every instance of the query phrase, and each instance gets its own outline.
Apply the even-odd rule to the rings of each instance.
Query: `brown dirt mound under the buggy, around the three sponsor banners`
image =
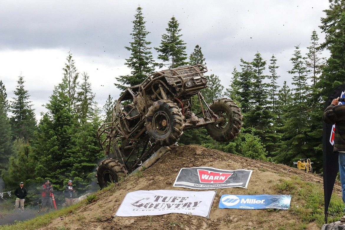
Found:
[[[180,168],[214,167],[219,169],[252,169],[247,189],[227,188],[217,189],[209,218],[190,216],[186,214],[166,214],[161,216],[114,217],[125,195],[137,190],[191,190],[172,187]],[[42,229],[187,229],[187,230],[223,230],[223,229],[288,229],[286,223],[302,223],[286,210],[267,211],[245,209],[219,209],[218,203],[222,194],[277,194],[274,184],[280,178],[298,176],[302,180],[319,184],[322,188],[322,177],[290,168],[282,164],[272,164],[265,161],[252,160],[234,154],[206,149],[200,146],[174,147],[157,163],[143,171],[142,174],[131,176],[114,187],[114,191],[105,192],[101,199],[76,210],[67,217],[53,220],[49,226]],[[196,190],[194,190],[196,191]],[[340,193],[339,184],[335,184],[334,192]],[[282,193],[283,194],[283,193]],[[291,206],[298,205],[292,198]],[[173,224],[176,224],[175,226]],[[178,223],[178,224],[177,224]],[[290,224],[291,226],[291,224]],[[306,229],[320,229],[315,223],[310,223]]]

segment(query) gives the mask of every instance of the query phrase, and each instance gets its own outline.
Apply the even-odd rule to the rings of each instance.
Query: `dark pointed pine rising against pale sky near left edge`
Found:
[[[10,117],[10,122],[15,137],[28,141],[33,137],[33,133],[37,127],[34,109],[31,108],[31,101],[29,101],[30,95],[24,89],[24,82],[24,77],[19,76],[17,88],[13,91],[16,97],[12,98],[13,101],[10,104],[10,109],[13,114]]]

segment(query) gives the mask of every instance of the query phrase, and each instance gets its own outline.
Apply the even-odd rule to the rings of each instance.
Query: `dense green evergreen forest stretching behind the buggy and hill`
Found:
[[[284,70],[291,85],[286,81],[283,85],[277,83],[280,76],[275,55],[264,60],[259,52],[253,53],[251,61],[238,60],[228,86],[223,86],[216,74],[206,76],[209,87],[201,90],[205,101],[211,103],[222,97],[234,100],[243,114],[241,132],[230,142],[217,142],[206,129],[190,129],[184,131],[178,144],[202,145],[291,167],[294,161],[309,158],[314,162],[314,173],[322,173],[325,101],[336,86],[345,83],[344,8],[345,0],[330,1],[329,9],[324,10],[326,17],[321,18],[325,41],[319,43],[319,35],[310,31],[308,52],[302,53],[296,45],[289,60],[284,60],[291,63],[291,68]],[[131,42],[124,47],[130,52],[124,63],[130,72],[114,78],[120,90],[140,84],[161,68],[207,66],[207,57],[198,44],[187,54],[183,31],[175,17],[167,23],[160,44],[147,41],[150,32],[141,7],[136,9],[132,23]],[[156,59],[152,49],[158,53]],[[329,57],[322,58],[325,50]],[[8,89],[0,79],[0,183],[4,185],[0,192],[13,191],[23,181],[29,190],[27,203],[33,205],[39,202],[40,187],[46,179],[52,183],[56,200],[63,200],[62,191],[70,179],[79,195],[95,187],[95,168],[104,158],[96,130],[112,120],[116,100],[112,92],[100,108],[88,73],[77,71],[72,51],[61,66],[61,82],[44,105],[47,112],[40,120],[25,89],[25,77],[19,76],[16,88],[9,89],[15,95],[12,99],[7,97]]]

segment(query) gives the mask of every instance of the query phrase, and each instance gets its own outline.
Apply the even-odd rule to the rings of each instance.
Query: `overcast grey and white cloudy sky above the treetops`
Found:
[[[0,80],[8,99],[12,100],[18,76],[23,76],[40,118],[39,113],[46,111],[42,105],[62,81],[70,50],[78,72],[88,73],[99,107],[109,93],[117,99],[115,77],[130,74],[124,64],[130,52],[124,47],[132,41],[139,3],[151,47],[159,47],[174,16],[188,56],[198,44],[209,69],[206,75],[217,75],[225,88],[234,67],[240,69],[240,58],[252,61],[256,52],[267,63],[274,54],[280,85],[290,84],[287,71],[292,69],[295,46],[305,54],[313,30],[319,42],[324,41],[320,19],[329,8],[328,0],[1,0]]]

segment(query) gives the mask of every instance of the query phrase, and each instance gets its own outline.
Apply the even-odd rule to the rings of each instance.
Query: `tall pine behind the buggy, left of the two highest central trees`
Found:
[[[142,8],[137,8],[135,20],[133,22],[133,30],[130,34],[133,41],[129,47],[125,47],[131,52],[131,56],[126,59],[126,66],[131,69],[131,74],[116,78],[118,83],[115,86],[121,90],[126,90],[128,86],[135,86],[144,81],[148,75],[155,70],[158,64],[152,58],[151,47],[147,47],[151,42],[146,41],[149,32],[146,30],[144,17],[141,12]]]

